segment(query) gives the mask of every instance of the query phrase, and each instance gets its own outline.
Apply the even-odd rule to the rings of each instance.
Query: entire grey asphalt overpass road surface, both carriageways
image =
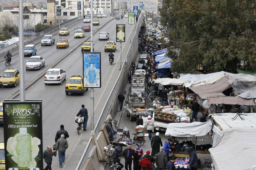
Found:
[[[100,25],[104,22],[108,22],[104,27],[102,27],[99,31],[107,31],[110,33],[110,38],[108,41],[116,42],[115,34],[116,34],[116,24],[120,23],[120,20],[111,20],[110,18],[101,18]],[[81,43],[83,40],[78,38],[73,38],[73,30],[76,26],[82,25],[77,24],[75,26],[70,27],[70,35],[67,36],[70,41],[70,47],[67,49],[56,49],[55,45],[51,46],[43,46],[37,44],[37,55],[42,55],[45,58],[46,64],[45,67],[49,66],[50,63],[54,62],[57,58],[59,58],[62,54],[66,53],[70,50],[75,44]],[[130,25],[128,25],[128,18],[122,19],[122,24],[126,24],[126,38],[130,36]],[[94,26],[96,28],[97,26]],[[109,64],[109,52],[104,52],[104,44],[107,40],[98,40],[98,33],[94,34],[94,52],[101,52],[101,88],[94,89],[94,106],[95,106],[95,117],[94,124],[96,124],[97,119],[99,118],[99,114],[104,107],[105,101],[109,96],[110,90],[112,89],[116,77],[119,74],[119,58],[120,58],[120,44],[117,43],[117,51],[113,52],[115,55],[114,63],[112,66]],[[90,33],[87,32],[85,37]],[[63,36],[65,37],[65,36]],[[59,38],[58,35],[55,35],[55,40],[57,41]],[[130,38],[130,37],[129,37]],[[84,38],[83,38],[84,39]],[[126,40],[127,40],[126,39]],[[130,41],[126,41],[122,43],[122,50],[126,43],[130,43]],[[126,54],[122,54],[125,56]],[[27,58],[27,57],[25,57]],[[122,57],[124,58],[124,57]],[[25,59],[26,62],[26,59]],[[2,73],[7,68],[18,68],[18,55],[14,56],[12,59],[12,63],[10,66],[0,67],[0,72]],[[24,63],[25,65],[25,63]],[[61,68],[66,71],[67,79],[62,83],[62,85],[45,85],[44,78],[42,77],[36,83],[34,83],[28,90],[25,92],[26,99],[42,99],[42,124],[43,124],[43,149],[46,149],[48,145],[54,144],[54,138],[57,130],[60,129],[60,125],[63,124],[65,130],[68,131],[70,137],[67,139],[69,147],[66,150],[66,160],[65,165],[62,169],[71,170],[75,169],[77,166],[81,155],[86,147],[86,144],[90,138],[90,121],[87,123],[87,131],[82,132],[80,135],[76,133],[75,123],[75,115],[78,113],[79,109],[81,109],[81,104],[84,104],[88,109],[89,117],[91,115],[91,100],[90,100],[90,90],[85,91],[84,95],[77,94],[69,94],[66,96],[65,94],[65,84],[67,80],[72,75],[82,75],[82,53],[81,46],[79,46],[75,51],[68,55],[65,59],[63,59],[60,63],[55,66],[55,68]],[[19,69],[19,68],[18,68]],[[46,71],[45,68],[42,68],[41,71]],[[26,82],[30,80],[32,77],[36,76],[40,71],[25,71],[25,79]],[[19,88],[19,84],[16,88]],[[10,95],[15,90],[15,88],[0,88],[1,99],[4,99],[6,96]],[[19,99],[19,96],[17,97]],[[0,126],[0,140],[3,140],[3,126]],[[77,151],[78,150],[78,151]],[[45,167],[46,164],[44,164]],[[58,167],[58,156],[53,157],[52,167],[55,170],[61,169]]]

